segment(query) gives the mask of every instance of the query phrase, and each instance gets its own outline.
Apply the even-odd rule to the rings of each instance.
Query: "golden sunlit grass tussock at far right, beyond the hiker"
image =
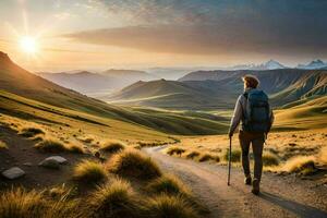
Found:
[[[315,159],[313,156],[294,157],[286,162],[282,170],[299,174],[314,173],[316,171]]]

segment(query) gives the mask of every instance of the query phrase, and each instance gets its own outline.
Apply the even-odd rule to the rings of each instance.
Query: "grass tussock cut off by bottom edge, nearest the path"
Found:
[[[198,215],[183,197],[160,195],[149,201],[147,217],[195,218]]]

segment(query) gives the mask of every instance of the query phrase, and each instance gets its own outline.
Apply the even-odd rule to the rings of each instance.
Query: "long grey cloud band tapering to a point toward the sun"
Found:
[[[299,37],[302,36],[302,37]],[[323,35],[326,37],[326,35]],[[240,52],[325,52],[322,35],[243,25],[156,25],[95,29],[64,35],[73,40],[149,52],[222,55]]]

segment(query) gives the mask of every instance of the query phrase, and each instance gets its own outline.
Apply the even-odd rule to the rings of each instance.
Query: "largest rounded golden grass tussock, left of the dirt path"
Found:
[[[135,149],[116,154],[107,162],[107,168],[113,173],[138,179],[155,179],[161,175],[157,164]]]

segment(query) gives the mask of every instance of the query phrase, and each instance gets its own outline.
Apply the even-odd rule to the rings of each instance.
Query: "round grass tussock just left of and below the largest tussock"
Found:
[[[84,184],[99,184],[107,179],[107,171],[99,162],[83,160],[73,172],[73,180]]]

